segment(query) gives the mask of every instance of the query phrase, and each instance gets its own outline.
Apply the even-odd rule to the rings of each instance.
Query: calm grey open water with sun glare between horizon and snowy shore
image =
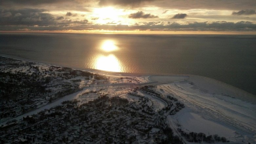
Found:
[[[0,55],[80,69],[200,75],[256,95],[255,35],[0,33]]]

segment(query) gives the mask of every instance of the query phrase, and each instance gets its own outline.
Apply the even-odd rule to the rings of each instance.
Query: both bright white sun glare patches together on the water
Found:
[[[121,72],[121,63],[117,57],[111,53],[118,50],[115,42],[113,40],[104,41],[100,46],[100,50],[103,52],[102,54],[98,54],[94,60],[94,68],[105,71]]]

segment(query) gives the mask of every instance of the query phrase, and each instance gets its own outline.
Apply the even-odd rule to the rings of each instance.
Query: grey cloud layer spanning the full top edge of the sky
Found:
[[[45,8],[49,10],[89,11],[91,7],[147,7],[163,9],[255,9],[255,0],[0,0],[0,8]]]

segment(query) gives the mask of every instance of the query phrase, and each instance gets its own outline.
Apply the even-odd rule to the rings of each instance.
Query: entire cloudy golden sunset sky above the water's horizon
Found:
[[[256,0],[0,0],[0,32],[256,34]]]

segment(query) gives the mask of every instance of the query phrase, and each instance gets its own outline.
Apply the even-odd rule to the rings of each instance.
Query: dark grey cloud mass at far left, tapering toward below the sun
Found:
[[[89,24],[87,19],[75,20],[72,19],[66,20],[63,16],[55,17],[50,13],[45,13],[44,9],[10,9],[3,10],[0,9],[0,26],[8,27],[66,27],[71,25],[86,25]],[[8,13],[8,17],[6,16]],[[16,13],[14,16],[10,13]],[[73,15],[73,14],[72,14]],[[33,28],[32,28],[33,29]],[[44,28],[45,29],[45,28]]]

